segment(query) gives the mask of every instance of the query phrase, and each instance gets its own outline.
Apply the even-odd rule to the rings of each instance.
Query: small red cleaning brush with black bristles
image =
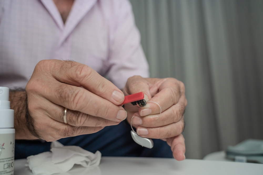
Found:
[[[131,94],[131,95],[125,96],[124,102],[120,105],[131,103],[132,105],[138,104],[139,106],[144,107],[146,105],[146,101],[143,98],[144,98],[143,92]]]

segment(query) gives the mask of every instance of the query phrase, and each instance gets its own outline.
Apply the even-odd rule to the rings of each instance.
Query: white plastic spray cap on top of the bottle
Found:
[[[0,128],[14,128],[14,110],[10,109],[7,87],[0,87]]]

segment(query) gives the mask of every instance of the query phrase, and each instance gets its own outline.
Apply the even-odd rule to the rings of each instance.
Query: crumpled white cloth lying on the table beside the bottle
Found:
[[[27,157],[28,166],[34,175],[67,172],[75,164],[94,167],[99,165],[101,159],[99,151],[94,154],[79,146],[64,146],[58,141],[52,142],[50,151]]]

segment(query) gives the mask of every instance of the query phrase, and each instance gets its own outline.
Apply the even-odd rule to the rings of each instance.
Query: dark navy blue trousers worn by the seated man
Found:
[[[171,148],[165,141],[153,139],[152,149],[136,144],[131,138],[130,125],[122,121],[115,126],[106,126],[99,132],[58,140],[63,145],[77,145],[95,153],[99,150],[102,156],[125,157],[166,157],[172,158]],[[51,142],[40,140],[16,140],[15,159],[27,158],[50,150]]]

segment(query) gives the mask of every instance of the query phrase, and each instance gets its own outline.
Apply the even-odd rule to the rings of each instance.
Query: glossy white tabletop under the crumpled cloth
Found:
[[[26,159],[15,160],[14,175],[32,175],[25,166]],[[176,161],[169,158],[102,157],[99,167],[74,166],[64,175],[118,175],[118,174],[263,174],[263,165],[256,163],[223,162],[186,159]]]

